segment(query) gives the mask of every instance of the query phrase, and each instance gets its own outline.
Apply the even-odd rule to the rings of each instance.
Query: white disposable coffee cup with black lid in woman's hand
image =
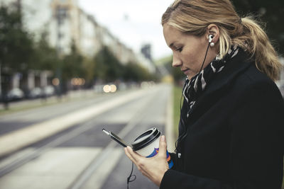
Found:
[[[157,128],[153,127],[150,130],[146,130],[140,134],[132,142],[132,149],[136,151],[141,156],[146,156],[147,158],[153,157],[158,154],[159,142],[160,142],[161,132]],[[170,154],[167,150],[167,161],[169,168],[173,167],[173,161],[170,159]]]

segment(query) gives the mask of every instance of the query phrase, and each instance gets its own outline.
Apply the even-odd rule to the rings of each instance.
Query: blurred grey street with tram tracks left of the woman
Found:
[[[0,116],[0,188],[126,188],[131,161],[102,132],[131,143],[158,127],[166,134],[171,86],[102,94]],[[130,188],[158,188],[141,175]]]

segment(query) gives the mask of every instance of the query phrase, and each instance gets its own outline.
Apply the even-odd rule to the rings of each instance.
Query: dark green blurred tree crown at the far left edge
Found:
[[[0,64],[11,71],[28,69],[33,54],[33,40],[22,28],[21,13],[0,7]],[[2,70],[2,69],[1,69]]]

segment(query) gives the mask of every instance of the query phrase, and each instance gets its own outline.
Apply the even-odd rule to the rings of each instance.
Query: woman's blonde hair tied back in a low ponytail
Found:
[[[231,45],[238,45],[256,60],[256,67],[277,80],[281,64],[268,36],[252,16],[240,18],[229,0],[175,0],[162,16],[162,25],[182,33],[202,36],[207,26],[219,28],[219,55],[224,57]]]

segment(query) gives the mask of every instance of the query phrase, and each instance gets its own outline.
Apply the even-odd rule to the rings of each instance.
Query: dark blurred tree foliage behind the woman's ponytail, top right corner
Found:
[[[275,49],[284,55],[284,1],[283,0],[233,0],[236,11],[244,17],[252,13],[266,23],[266,33]]]

